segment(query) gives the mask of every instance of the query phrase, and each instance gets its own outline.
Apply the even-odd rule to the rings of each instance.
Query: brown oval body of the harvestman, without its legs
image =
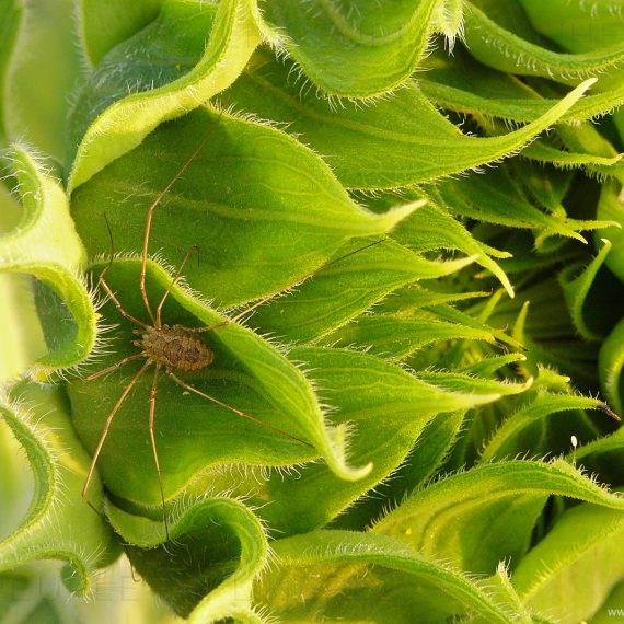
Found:
[[[148,327],[138,344],[150,360],[183,372],[201,370],[215,359],[212,349],[197,334],[180,325]]]

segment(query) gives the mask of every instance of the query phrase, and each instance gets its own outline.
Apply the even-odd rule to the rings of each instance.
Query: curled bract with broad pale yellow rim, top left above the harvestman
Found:
[[[216,11],[203,2],[164,2],[159,19],[113,48],[83,88],[72,112],[80,146],[69,188],[137,147],[161,122],[229,86],[258,43],[249,0],[224,0]]]

